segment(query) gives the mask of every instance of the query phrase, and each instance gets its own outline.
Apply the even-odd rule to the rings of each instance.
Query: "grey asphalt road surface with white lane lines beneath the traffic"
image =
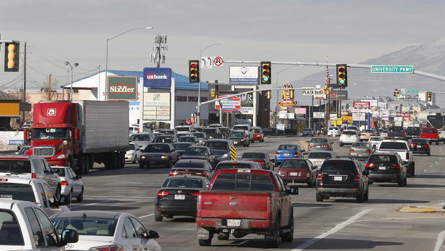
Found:
[[[308,140],[302,137],[266,139],[251,144],[243,151],[267,151],[274,156],[281,143]],[[338,138],[337,138],[338,139]],[[349,147],[334,142],[336,155],[347,156]],[[300,185],[294,202],[294,241],[281,243],[277,250],[373,250],[373,251],[433,251],[438,235],[445,231],[445,214],[402,213],[406,205],[445,205],[445,147],[432,145],[431,156],[415,155],[416,174],[408,178],[407,186],[374,184],[369,201],[355,199],[315,201],[315,189]],[[127,164],[124,169],[104,170],[100,166],[85,175],[85,195],[82,203],[72,203],[72,210],[113,210],[132,213],[147,229],[159,231],[158,239],[164,251],[251,251],[265,249],[263,236],[248,235],[241,239],[230,236],[228,241],[214,238],[211,247],[199,247],[195,219],[175,217],[155,222],[154,200],[158,188],[168,176],[164,167],[140,169]]]

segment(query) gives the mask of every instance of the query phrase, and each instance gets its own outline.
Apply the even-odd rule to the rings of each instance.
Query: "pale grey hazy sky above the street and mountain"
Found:
[[[0,0],[3,40],[19,40],[21,52],[23,42],[29,44],[29,85],[42,84],[49,73],[66,83],[65,61],[79,63],[74,79],[105,69],[106,38],[144,26],[154,29],[109,41],[109,69],[154,66],[148,54],[155,34],[168,36],[163,66],[185,74],[189,59],[218,43],[229,45],[203,55],[311,62],[327,55],[331,62],[357,63],[445,36],[445,0]],[[226,83],[228,65],[202,70],[201,79]],[[272,78],[285,67],[273,66]],[[20,78],[5,85],[21,72],[2,69],[1,59],[0,90],[21,86]],[[280,74],[280,83],[320,70],[294,67]]]

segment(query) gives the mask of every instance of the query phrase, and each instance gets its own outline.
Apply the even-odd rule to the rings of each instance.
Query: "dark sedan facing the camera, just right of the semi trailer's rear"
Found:
[[[139,167],[165,165],[171,168],[179,159],[178,152],[171,144],[153,143],[145,147],[139,158]]]

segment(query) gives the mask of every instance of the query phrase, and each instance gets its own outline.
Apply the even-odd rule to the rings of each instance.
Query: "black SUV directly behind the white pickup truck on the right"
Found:
[[[397,152],[372,153],[365,160],[365,170],[369,171],[369,184],[374,182],[397,183],[406,186],[406,164]]]

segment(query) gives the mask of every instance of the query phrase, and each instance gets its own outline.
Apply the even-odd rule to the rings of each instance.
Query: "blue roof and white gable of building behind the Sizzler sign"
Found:
[[[108,70],[108,76],[137,76],[138,78],[143,78],[143,71],[120,71],[120,70]],[[179,90],[198,90],[197,83],[190,83],[189,78],[181,73],[176,71],[172,72],[172,78],[175,78],[175,89]],[[91,89],[97,88],[99,81],[101,82],[101,86],[105,86],[105,70],[100,72],[93,73],[86,77],[77,79],[73,81],[73,88],[80,89]],[[64,84],[60,86],[61,88],[68,88],[71,83]],[[200,82],[201,90],[208,91],[209,84],[205,82]],[[102,89],[102,87],[101,87]],[[159,88],[159,89],[170,89],[170,88]]]

